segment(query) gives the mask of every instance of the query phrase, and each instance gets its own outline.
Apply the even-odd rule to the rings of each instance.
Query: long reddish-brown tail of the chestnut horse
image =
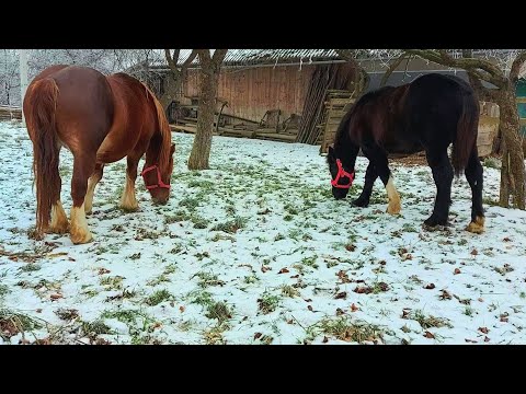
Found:
[[[52,205],[60,188],[58,173],[59,147],[55,124],[58,86],[52,78],[34,82],[24,115],[33,140],[33,172],[36,181],[36,234],[42,237],[49,219]]]

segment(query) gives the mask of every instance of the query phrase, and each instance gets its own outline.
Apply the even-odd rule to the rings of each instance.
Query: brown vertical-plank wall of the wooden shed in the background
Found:
[[[218,97],[228,102],[224,113],[256,121],[268,109],[282,109],[282,119],[301,114],[315,67],[224,68],[218,88]],[[188,70],[183,94],[198,95],[197,70]]]

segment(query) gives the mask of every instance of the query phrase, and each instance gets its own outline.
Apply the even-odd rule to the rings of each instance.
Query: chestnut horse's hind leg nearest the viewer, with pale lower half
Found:
[[[95,170],[95,158],[75,154],[73,177],[71,179],[71,242],[73,244],[88,243],[93,239],[85,220],[84,198],[88,192],[88,178]]]

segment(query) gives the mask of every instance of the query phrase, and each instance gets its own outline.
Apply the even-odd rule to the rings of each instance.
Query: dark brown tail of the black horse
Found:
[[[453,167],[455,175],[468,165],[471,151],[477,143],[479,128],[479,102],[473,94],[465,94],[462,97],[462,113],[457,123],[457,136],[453,143]]]

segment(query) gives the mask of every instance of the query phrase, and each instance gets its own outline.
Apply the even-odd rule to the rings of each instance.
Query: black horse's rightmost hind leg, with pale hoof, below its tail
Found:
[[[465,170],[466,179],[471,186],[471,222],[466,230],[472,233],[481,234],[484,231],[484,210],[482,208],[482,165],[479,161],[477,146],[471,151],[468,165]]]

